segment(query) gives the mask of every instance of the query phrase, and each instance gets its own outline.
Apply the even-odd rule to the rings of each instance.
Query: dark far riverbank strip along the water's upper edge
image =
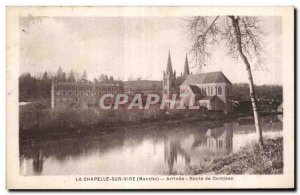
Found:
[[[82,113],[81,113],[82,114]],[[276,115],[276,113],[264,114],[267,115]],[[52,120],[51,120],[52,119]],[[83,137],[88,135],[95,135],[99,133],[113,133],[119,132],[121,133],[126,129],[162,129],[167,127],[182,127],[188,128],[191,125],[195,125],[197,123],[205,122],[210,127],[217,126],[224,122],[231,122],[235,120],[241,124],[254,124],[254,119],[252,116],[236,113],[236,114],[202,114],[196,116],[164,116],[163,118],[151,118],[144,121],[100,121],[100,122],[92,122],[90,124],[86,124],[80,121],[80,119],[74,117],[68,117],[68,119],[72,119],[69,124],[71,125],[63,125],[57,126],[57,124],[68,124],[66,121],[62,121],[66,118],[53,118],[50,116],[49,119],[46,119],[47,122],[51,122],[50,128],[41,128],[43,125],[40,125],[40,129],[31,128],[27,130],[20,129],[20,143],[27,144],[32,143],[32,141],[47,141],[47,140],[57,140],[57,139],[70,139],[76,137]],[[46,127],[46,126],[45,126]],[[64,128],[63,128],[64,127]]]

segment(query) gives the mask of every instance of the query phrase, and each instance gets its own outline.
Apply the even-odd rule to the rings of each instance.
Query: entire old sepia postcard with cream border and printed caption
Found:
[[[8,189],[292,189],[293,7],[7,7]]]

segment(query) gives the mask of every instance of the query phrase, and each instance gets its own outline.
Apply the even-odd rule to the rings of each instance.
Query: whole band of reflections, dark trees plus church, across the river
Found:
[[[270,128],[263,126],[264,129],[277,129],[278,125],[282,125],[276,117],[263,117],[262,125],[270,126]],[[76,158],[81,158],[82,156],[96,154],[101,156],[102,154],[119,151],[126,147],[137,148],[144,140],[152,140],[150,143],[153,144],[154,151],[156,149],[164,150],[165,164],[168,166],[169,174],[175,174],[176,164],[182,162],[179,157],[183,157],[183,163],[188,167],[191,164],[193,165],[196,158],[198,158],[197,160],[199,158],[205,160],[205,155],[231,153],[233,130],[235,134],[244,130],[248,131],[248,129],[250,131],[252,129],[255,130],[253,124],[237,124],[237,120],[234,123],[213,121],[207,123],[178,123],[173,124],[173,126],[166,124],[151,126],[151,124],[145,124],[144,127],[138,128],[120,127],[118,129],[102,130],[101,133],[77,138],[39,142],[27,140],[26,142],[21,142],[27,144],[20,143],[20,163],[22,166],[24,159],[33,159],[34,172],[41,173],[43,162],[48,157],[62,162],[69,157],[76,160]],[[164,142],[164,148],[159,148],[160,144],[156,145],[156,143],[162,142]],[[155,148],[156,146],[158,147]],[[149,149],[152,150],[152,148]],[[157,152],[157,154],[159,155],[160,152]]]

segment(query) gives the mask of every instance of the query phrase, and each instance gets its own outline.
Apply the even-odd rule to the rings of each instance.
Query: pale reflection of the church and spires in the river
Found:
[[[232,123],[212,129],[200,129],[193,136],[172,134],[164,138],[165,163],[169,174],[176,173],[176,164],[180,157],[184,158],[184,166],[188,167],[192,161],[205,160],[206,156],[232,152],[233,138]],[[185,140],[186,139],[186,140]],[[196,162],[196,164],[198,164]],[[174,170],[175,169],[175,170]]]

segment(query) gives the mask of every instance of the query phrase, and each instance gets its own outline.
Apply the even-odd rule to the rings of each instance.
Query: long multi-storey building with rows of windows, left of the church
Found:
[[[51,108],[55,107],[92,107],[98,106],[104,94],[123,93],[122,82],[59,82],[52,83]]]

